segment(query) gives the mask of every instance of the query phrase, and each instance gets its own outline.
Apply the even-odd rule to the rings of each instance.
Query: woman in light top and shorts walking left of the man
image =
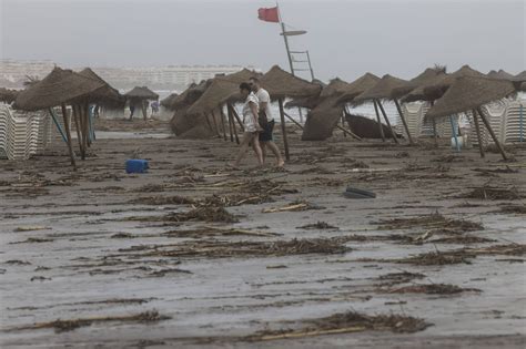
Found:
[[[257,162],[261,166],[263,165],[263,153],[260,146],[259,132],[261,132],[262,129],[257,123],[260,102],[257,101],[257,97],[255,96],[254,92],[252,92],[250,84],[247,84],[246,82],[240,84],[240,92],[243,99],[245,100],[245,104],[243,105],[244,133],[243,140],[241,141],[241,148],[237,153],[235,162],[233,163],[233,166],[237,167],[240,165],[241,161],[249,151],[251,142],[253,142],[254,144],[254,151],[257,155]]]

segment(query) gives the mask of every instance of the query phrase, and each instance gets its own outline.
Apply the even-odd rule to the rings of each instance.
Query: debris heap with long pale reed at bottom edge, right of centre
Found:
[[[303,320],[297,329],[265,330],[250,336],[247,340],[276,340],[303,338],[322,335],[350,333],[362,331],[392,331],[413,333],[422,331],[431,324],[423,319],[402,315],[368,316],[354,311],[334,314],[328,317]]]

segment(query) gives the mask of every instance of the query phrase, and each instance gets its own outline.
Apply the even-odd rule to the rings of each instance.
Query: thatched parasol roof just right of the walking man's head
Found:
[[[318,84],[294,76],[277,65],[261,76],[260,83],[274,100],[315,95],[322,90]]]

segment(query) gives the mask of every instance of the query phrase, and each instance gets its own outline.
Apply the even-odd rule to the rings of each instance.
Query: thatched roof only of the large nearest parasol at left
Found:
[[[83,97],[102,88],[104,84],[100,81],[57,66],[48,76],[21,91],[14,105],[27,111],[48,109]]]

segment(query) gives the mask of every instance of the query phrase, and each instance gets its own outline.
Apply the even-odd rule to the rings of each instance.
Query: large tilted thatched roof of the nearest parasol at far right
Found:
[[[449,116],[500,100],[515,92],[512,82],[489,78],[461,76],[436,101],[426,117]]]

